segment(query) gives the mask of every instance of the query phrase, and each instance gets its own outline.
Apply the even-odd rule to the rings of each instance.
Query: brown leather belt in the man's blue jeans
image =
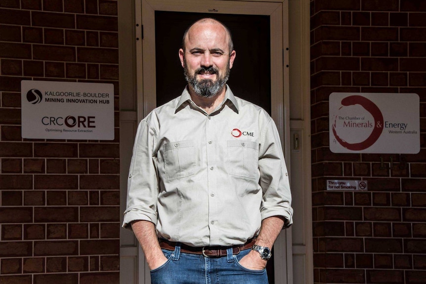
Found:
[[[208,257],[226,256],[226,250],[232,247],[232,254],[238,254],[241,250],[252,248],[256,239],[250,239],[247,243],[233,246],[190,246],[183,243],[169,242],[167,240],[158,240],[160,247],[168,250],[174,250],[176,245],[180,245],[180,252],[202,254]]]

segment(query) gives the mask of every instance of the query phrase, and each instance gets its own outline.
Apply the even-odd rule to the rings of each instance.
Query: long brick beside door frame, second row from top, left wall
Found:
[[[92,31],[118,31],[117,17],[77,15],[77,29]]]

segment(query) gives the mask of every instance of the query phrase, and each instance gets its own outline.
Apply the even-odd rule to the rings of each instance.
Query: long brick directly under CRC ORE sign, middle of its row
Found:
[[[34,156],[47,158],[77,158],[78,145],[76,143],[35,143]]]

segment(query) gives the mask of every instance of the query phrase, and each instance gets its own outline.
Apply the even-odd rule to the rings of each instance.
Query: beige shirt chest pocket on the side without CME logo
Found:
[[[164,144],[166,179],[184,178],[195,172],[195,150],[191,140]]]

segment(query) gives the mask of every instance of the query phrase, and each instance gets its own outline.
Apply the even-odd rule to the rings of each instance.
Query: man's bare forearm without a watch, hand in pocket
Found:
[[[142,247],[149,268],[152,270],[163,264],[165,256],[158,243],[155,225],[149,221],[138,220],[131,223],[131,228]]]

